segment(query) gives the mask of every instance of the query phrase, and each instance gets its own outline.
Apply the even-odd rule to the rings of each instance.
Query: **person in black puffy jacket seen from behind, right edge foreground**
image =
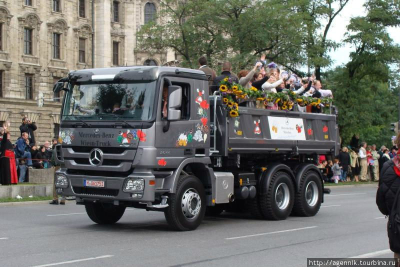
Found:
[[[386,161],[383,164],[379,178],[379,187],[376,192],[376,205],[379,211],[384,215],[389,215],[394,201],[397,190],[400,188],[400,169],[394,164],[392,160]],[[389,243],[399,242],[399,240],[389,240]],[[394,249],[391,250],[393,251]],[[400,259],[400,249],[393,251],[394,257]],[[400,263],[399,263],[400,266]]]

